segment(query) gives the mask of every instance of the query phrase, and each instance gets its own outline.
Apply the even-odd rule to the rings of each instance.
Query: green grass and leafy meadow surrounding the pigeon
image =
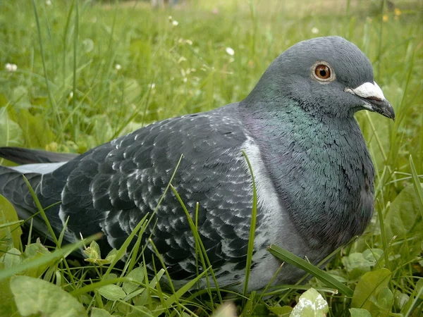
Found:
[[[326,275],[312,268],[321,280],[269,287],[266,293],[273,297],[244,294],[235,301],[236,309],[243,316],[283,316],[289,313],[286,306],[293,306],[312,286],[329,304],[329,316],[350,316],[350,308],[367,309],[372,316],[419,316],[423,305],[421,1],[396,0],[391,8],[376,0],[192,0],[159,10],[142,1],[52,3],[0,1],[1,146],[82,153],[155,120],[240,101],[278,54],[303,39],[341,35],[357,44],[372,61],[376,82],[397,118],[392,123],[374,113],[357,114],[376,167],[376,210],[364,235],[338,250],[325,266],[326,273],[343,282],[345,292],[336,292],[336,285],[328,285],[327,279],[326,284],[321,282]],[[226,52],[228,47],[234,55]],[[16,64],[17,70],[6,70],[6,63]],[[4,206],[1,210],[6,213]],[[6,232],[4,242],[10,244],[7,228],[16,223],[5,219],[0,223],[8,227],[0,227],[0,233]],[[195,219],[190,225],[195,232]],[[143,228],[145,223],[140,223],[138,231]],[[56,290],[57,297],[51,295],[51,301],[68,303],[73,297],[91,316],[108,316],[98,309],[115,316],[209,316],[228,296],[235,298],[210,287],[193,293],[188,292],[190,285],[165,290],[159,283],[167,274],[161,263],[154,263],[157,275],[148,276],[144,266],[138,268],[135,252],[122,271],[111,271],[111,266],[99,265],[104,259],[95,257],[94,244],[92,263],[85,267],[63,259],[75,246],[49,254],[37,242],[30,246],[24,252],[15,245],[17,249],[9,249],[0,260],[0,298],[13,316],[20,316],[17,309],[23,314],[25,304],[35,306],[32,299],[18,297],[23,291],[20,285],[30,285],[26,287],[33,292],[47,290],[39,279],[12,277],[18,272],[54,283],[57,289],[51,292]],[[135,251],[142,247],[138,240]],[[209,268],[200,241],[197,247],[199,266]],[[109,262],[122,255],[123,249],[117,250]],[[212,270],[204,274],[211,283]],[[42,302],[48,299],[39,300],[40,307],[49,306]]]

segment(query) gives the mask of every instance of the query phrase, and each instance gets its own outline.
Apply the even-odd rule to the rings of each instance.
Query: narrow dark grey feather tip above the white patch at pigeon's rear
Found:
[[[20,147],[0,147],[0,157],[18,164],[59,163],[75,159],[78,154],[56,153]]]

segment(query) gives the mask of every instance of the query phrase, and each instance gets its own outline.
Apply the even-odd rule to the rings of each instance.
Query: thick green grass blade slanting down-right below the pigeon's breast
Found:
[[[326,285],[336,288],[342,294],[345,294],[348,297],[353,297],[353,290],[351,290],[350,287],[343,285],[343,283],[336,280],[336,278],[333,278],[333,276],[329,275],[328,273],[321,270],[320,268],[317,268],[311,263],[301,259],[299,256],[296,256],[290,251],[283,249],[281,247],[278,247],[274,244],[270,245],[269,251],[278,259],[281,259],[282,261],[286,261],[286,263],[289,263],[290,265],[301,268],[302,270],[312,274],[314,277],[324,282]]]

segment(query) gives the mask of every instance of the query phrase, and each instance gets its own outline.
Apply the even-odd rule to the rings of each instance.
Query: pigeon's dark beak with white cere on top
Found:
[[[395,120],[395,112],[392,105],[385,99],[384,93],[376,82],[364,82],[357,88],[345,88],[345,92],[354,94],[364,101],[362,105],[369,111],[374,111],[386,118]]]

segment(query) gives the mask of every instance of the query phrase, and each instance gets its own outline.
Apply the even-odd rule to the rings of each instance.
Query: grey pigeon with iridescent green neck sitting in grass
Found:
[[[183,285],[203,269],[178,197],[164,194],[174,174],[171,184],[197,224],[217,284],[240,291],[254,177],[257,225],[247,290],[259,290],[281,267],[269,244],[316,264],[364,232],[375,172],[354,118],[360,110],[395,118],[369,59],[342,37],[309,39],[278,56],[238,103],[152,123],[76,157],[22,150],[29,164],[1,166],[0,193],[20,218],[36,213],[24,174],[49,207],[56,234],[66,221],[68,243],[102,232],[102,254],[121,247],[152,215],[141,237],[145,262],[151,266],[157,256],[151,238],[174,285]],[[7,148],[0,154],[17,161],[23,155]],[[39,216],[34,227],[47,232]],[[294,283],[303,274],[284,265],[273,283]]]

